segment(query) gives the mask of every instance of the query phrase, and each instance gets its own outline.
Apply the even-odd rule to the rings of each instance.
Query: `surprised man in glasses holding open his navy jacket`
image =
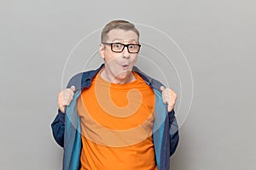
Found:
[[[177,95],[134,66],[140,47],[133,24],[109,22],[99,48],[104,64],[59,94],[51,126],[64,147],[63,169],[169,169]]]

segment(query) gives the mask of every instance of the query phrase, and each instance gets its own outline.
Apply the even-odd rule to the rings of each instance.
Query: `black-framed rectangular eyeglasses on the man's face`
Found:
[[[131,54],[138,53],[140,51],[141,45],[140,44],[124,44],[119,42],[114,43],[108,43],[108,42],[102,42],[104,45],[110,45],[111,50],[115,53],[122,53],[125,49],[125,47],[128,49],[128,52]]]

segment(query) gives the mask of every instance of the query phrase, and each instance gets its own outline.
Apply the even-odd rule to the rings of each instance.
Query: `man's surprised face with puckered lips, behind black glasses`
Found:
[[[107,39],[106,42],[108,43],[138,44],[138,37],[134,31],[114,29],[108,32]],[[115,80],[129,78],[132,67],[137,61],[137,53],[129,53],[127,47],[124,48],[123,52],[116,53],[111,50],[111,45],[103,44],[101,44],[99,51],[104,59],[108,77]]]

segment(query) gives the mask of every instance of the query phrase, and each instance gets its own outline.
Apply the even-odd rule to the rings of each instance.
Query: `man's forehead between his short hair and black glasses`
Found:
[[[113,29],[108,32],[108,41],[138,41],[135,31],[126,31],[122,29]]]

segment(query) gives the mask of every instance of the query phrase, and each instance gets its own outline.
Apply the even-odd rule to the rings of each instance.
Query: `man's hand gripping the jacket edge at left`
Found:
[[[58,107],[62,113],[65,113],[65,107],[70,104],[73,100],[73,94],[75,91],[75,87],[66,88],[58,94]]]

